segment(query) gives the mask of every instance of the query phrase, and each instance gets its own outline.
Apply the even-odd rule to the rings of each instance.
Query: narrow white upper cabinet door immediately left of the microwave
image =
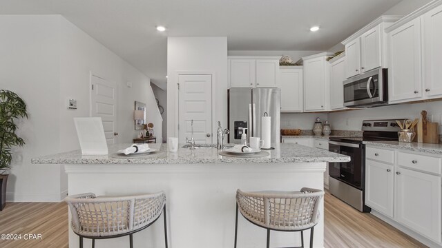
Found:
[[[332,110],[343,110],[345,80],[345,57],[329,65],[330,75],[330,107]]]

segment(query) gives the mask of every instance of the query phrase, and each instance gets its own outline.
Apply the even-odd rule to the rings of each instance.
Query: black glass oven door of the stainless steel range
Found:
[[[364,145],[329,141],[329,151],[347,155],[351,158],[350,162],[329,163],[329,176],[358,189],[363,189]]]

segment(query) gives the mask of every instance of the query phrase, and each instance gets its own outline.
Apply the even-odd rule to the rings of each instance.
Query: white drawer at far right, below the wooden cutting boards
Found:
[[[398,152],[398,165],[423,172],[441,174],[442,158]]]

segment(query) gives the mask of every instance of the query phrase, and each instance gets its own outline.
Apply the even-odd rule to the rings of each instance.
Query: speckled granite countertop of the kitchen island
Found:
[[[221,156],[216,148],[199,148],[191,150],[180,148],[169,152],[166,144],[149,144],[157,152],[142,156],[124,156],[117,154],[131,144],[117,144],[108,147],[106,156],[82,156],[80,150],[61,154],[32,158],[34,164],[209,164],[209,163],[320,163],[348,162],[349,156],[327,152],[323,149],[306,147],[294,143],[278,143],[276,149],[266,150],[269,156],[260,158],[237,158]]]

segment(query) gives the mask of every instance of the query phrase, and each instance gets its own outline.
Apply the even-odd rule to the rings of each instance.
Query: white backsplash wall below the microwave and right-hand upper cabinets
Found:
[[[402,105],[389,105],[384,107],[373,107],[364,110],[352,110],[347,112],[329,113],[329,121],[333,127],[340,130],[361,130],[363,120],[387,119],[387,118],[419,118],[422,110],[432,115],[433,122],[442,123],[442,101],[431,103],[414,103]],[[332,128],[336,129],[336,128]],[[439,126],[439,133],[442,128]]]

